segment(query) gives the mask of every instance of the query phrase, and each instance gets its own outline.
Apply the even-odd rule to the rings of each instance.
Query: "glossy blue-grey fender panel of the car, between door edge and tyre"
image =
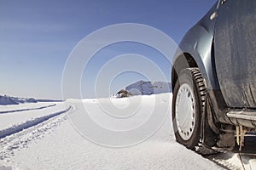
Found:
[[[189,54],[195,59],[202,76],[206,79],[207,89],[219,89],[214,71],[214,60],[212,60],[212,40],[214,19],[210,20],[211,15],[217,10],[218,3],[183,37],[179,44],[177,54],[173,59],[175,67],[177,59],[183,54]],[[178,68],[176,69],[178,71]],[[173,73],[173,72],[172,72]],[[172,80],[173,81],[173,80]]]

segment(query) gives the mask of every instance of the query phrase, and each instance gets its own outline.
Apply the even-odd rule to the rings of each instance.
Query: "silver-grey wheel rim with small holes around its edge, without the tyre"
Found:
[[[195,129],[195,95],[189,84],[182,84],[177,91],[175,117],[181,138],[190,139]]]

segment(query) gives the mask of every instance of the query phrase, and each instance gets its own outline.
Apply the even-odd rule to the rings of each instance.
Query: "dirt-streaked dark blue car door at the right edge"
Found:
[[[223,0],[214,31],[219,87],[231,108],[256,108],[256,0]]]

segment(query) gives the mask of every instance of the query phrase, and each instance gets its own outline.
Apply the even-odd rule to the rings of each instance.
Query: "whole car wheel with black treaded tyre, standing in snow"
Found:
[[[206,88],[198,68],[181,71],[172,99],[172,122],[178,143],[194,150],[201,137]]]

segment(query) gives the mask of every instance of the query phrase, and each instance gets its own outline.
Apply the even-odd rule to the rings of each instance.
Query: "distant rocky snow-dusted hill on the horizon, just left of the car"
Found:
[[[121,89],[113,98],[129,97],[133,95],[151,95],[172,92],[171,82],[144,82],[138,81]]]

